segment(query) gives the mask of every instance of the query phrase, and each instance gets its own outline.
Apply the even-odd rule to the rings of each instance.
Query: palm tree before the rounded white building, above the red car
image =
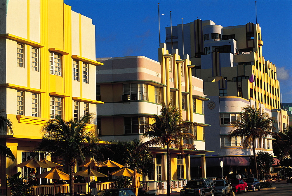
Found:
[[[261,110],[260,108],[255,108],[254,106],[246,105],[242,108],[240,112],[241,119],[236,122],[231,122],[234,131],[230,131],[229,136],[244,136],[246,137],[243,142],[243,148],[252,148],[253,149],[253,158],[255,160],[256,166],[256,178],[258,177],[258,165],[256,161],[256,146],[255,141],[262,137],[273,137],[278,136],[277,133],[274,133],[270,130],[275,130],[275,127],[272,126],[272,123],[277,123],[273,117]]]

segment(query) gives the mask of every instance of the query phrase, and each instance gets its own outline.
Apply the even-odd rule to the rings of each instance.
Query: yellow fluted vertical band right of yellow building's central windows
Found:
[[[64,118],[71,119],[73,115],[72,101],[72,25],[71,25],[71,6],[63,4],[63,20],[64,20],[64,50],[69,55],[64,55],[64,93],[70,97],[64,98]]]

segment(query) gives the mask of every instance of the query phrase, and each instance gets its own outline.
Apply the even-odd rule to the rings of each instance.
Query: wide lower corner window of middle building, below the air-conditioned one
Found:
[[[144,122],[148,123],[148,117],[124,117],[125,134],[144,133]]]

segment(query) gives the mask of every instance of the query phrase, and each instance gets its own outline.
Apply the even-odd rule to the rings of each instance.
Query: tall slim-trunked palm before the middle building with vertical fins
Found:
[[[181,150],[183,140],[194,140],[195,136],[190,132],[196,122],[185,122],[181,117],[179,108],[174,108],[171,103],[162,103],[160,115],[153,115],[153,124],[145,123],[144,136],[150,140],[145,142],[148,146],[166,146],[166,166],[167,166],[167,196],[170,195],[170,145],[175,145]]]

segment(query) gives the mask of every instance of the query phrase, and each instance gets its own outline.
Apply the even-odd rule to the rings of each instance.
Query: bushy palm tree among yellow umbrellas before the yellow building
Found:
[[[86,161],[86,158],[99,159],[99,138],[93,131],[86,129],[93,114],[84,115],[78,120],[64,121],[61,117],[48,121],[41,132],[44,133],[38,152],[45,155],[61,157],[69,165],[70,196],[74,196],[74,166],[77,160]]]

